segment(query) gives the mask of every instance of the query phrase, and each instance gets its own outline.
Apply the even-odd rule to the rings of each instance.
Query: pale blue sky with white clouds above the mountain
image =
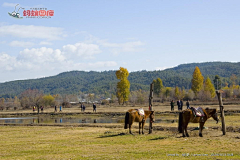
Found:
[[[239,0],[1,0],[0,83],[72,70],[239,62],[239,7]],[[23,16],[32,8],[54,15]],[[23,18],[9,16],[14,10]]]

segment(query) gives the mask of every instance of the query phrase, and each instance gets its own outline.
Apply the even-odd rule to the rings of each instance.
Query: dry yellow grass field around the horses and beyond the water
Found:
[[[98,106],[97,112],[125,112],[141,106]],[[218,108],[217,105],[208,106]],[[147,107],[144,107],[147,109]],[[169,106],[154,106],[156,120],[176,120]],[[238,110],[238,105],[225,106],[225,110]],[[52,113],[53,108],[44,110]],[[78,113],[80,108],[64,108],[63,113]],[[86,112],[92,112],[87,107]],[[164,113],[162,113],[164,112]],[[31,110],[4,111],[32,113]],[[33,124],[0,125],[0,159],[240,159],[239,113],[226,114],[226,135],[222,134],[221,122],[211,118],[198,136],[192,130],[198,124],[189,125],[190,137],[177,132],[177,122],[155,123],[152,134],[138,135],[138,124],[133,126],[134,135],[116,124]]]

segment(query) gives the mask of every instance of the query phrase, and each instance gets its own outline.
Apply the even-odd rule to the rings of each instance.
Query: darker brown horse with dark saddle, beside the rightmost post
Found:
[[[208,118],[212,117],[215,121],[218,123],[218,115],[217,115],[217,110],[216,109],[202,109],[205,116],[204,117],[195,117],[191,109],[186,109],[182,111],[182,133],[183,137],[186,136],[189,137],[189,134],[187,132],[187,126],[189,122],[192,123],[199,123],[199,136],[202,137],[202,130],[205,122],[207,121]],[[185,132],[185,133],[184,133]]]

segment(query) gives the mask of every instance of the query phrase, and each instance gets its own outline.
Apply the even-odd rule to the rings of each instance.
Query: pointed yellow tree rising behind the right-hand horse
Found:
[[[201,73],[200,69],[198,68],[198,66],[196,66],[196,68],[193,72],[192,86],[191,86],[191,89],[195,93],[195,95],[197,95],[197,93],[202,89],[203,80],[204,80],[204,78],[202,76],[202,73]]]

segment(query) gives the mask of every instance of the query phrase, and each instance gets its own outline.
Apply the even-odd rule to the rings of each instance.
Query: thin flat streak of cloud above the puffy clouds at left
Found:
[[[66,36],[66,34],[63,33],[63,28],[58,27],[5,25],[0,26],[0,36],[59,40]]]

